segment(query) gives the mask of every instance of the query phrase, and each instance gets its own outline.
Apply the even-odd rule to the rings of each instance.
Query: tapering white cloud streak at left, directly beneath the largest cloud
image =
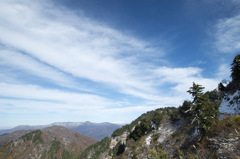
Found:
[[[8,67],[15,74],[21,70],[63,87],[91,91],[90,89],[83,88],[83,86],[77,84],[73,78],[65,75],[63,72],[43,64],[30,56],[11,49],[0,49],[0,66]],[[7,82],[7,80],[1,80]]]

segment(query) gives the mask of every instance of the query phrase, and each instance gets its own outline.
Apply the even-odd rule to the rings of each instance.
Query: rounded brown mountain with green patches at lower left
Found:
[[[61,126],[18,130],[0,137],[0,158],[77,158],[96,142]]]

